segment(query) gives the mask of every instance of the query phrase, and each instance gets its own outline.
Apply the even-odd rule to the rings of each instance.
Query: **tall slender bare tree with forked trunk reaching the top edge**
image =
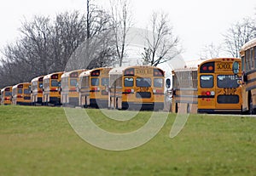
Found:
[[[121,66],[125,57],[127,33],[132,26],[131,6],[129,0],[110,0],[110,3],[115,48]]]

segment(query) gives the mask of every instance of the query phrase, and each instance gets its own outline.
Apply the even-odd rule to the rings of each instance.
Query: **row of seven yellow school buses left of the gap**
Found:
[[[154,66],[61,71],[3,88],[1,104],[162,110],[164,79]]]

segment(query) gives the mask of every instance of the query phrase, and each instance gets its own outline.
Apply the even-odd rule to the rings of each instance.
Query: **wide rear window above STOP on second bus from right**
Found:
[[[234,75],[218,75],[217,77],[218,88],[238,88],[239,84]]]

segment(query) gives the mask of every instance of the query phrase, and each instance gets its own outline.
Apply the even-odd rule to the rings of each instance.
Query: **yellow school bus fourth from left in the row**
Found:
[[[43,78],[43,105],[61,105],[61,75],[51,73]]]

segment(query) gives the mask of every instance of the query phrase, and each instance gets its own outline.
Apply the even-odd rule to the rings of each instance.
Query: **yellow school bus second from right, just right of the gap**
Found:
[[[240,65],[236,75],[233,63]],[[241,60],[198,60],[197,65],[173,71],[172,112],[240,113]]]

